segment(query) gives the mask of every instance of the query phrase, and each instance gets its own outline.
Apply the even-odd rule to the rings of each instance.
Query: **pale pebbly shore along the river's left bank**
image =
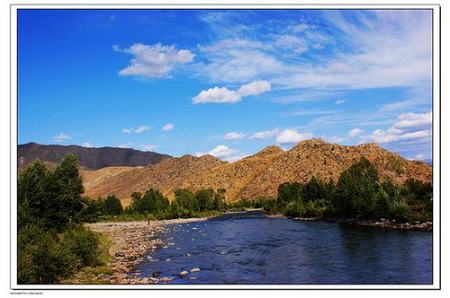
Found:
[[[101,222],[86,224],[92,231],[107,236],[112,241],[109,254],[113,261],[109,266],[113,269],[112,275],[99,276],[105,283],[111,284],[156,284],[170,281],[167,277],[140,278],[130,275],[136,265],[143,261],[144,255],[163,247],[166,243],[161,235],[166,233],[168,224],[182,224],[188,222],[205,221],[208,218],[171,219],[161,221],[130,221],[130,222]]]

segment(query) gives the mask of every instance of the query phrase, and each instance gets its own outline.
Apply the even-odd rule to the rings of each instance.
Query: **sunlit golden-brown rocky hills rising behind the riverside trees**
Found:
[[[173,191],[177,188],[224,188],[226,200],[234,201],[276,196],[281,183],[304,183],[313,175],[336,182],[342,171],[361,157],[375,165],[383,181],[432,180],[430,165],[406,160],[376,144],[342,146],[320,139],[300,142],[289,151],[269,146],[234,163],[223,162],[210,155],[185,155],[145,167],[109,167],[83,171],[82,175],[86,195],[95,198],[115,194],[125,205],[130,202],[133,191],[144,192],[150,187],[159,189],[169,198],[173,198]]]

